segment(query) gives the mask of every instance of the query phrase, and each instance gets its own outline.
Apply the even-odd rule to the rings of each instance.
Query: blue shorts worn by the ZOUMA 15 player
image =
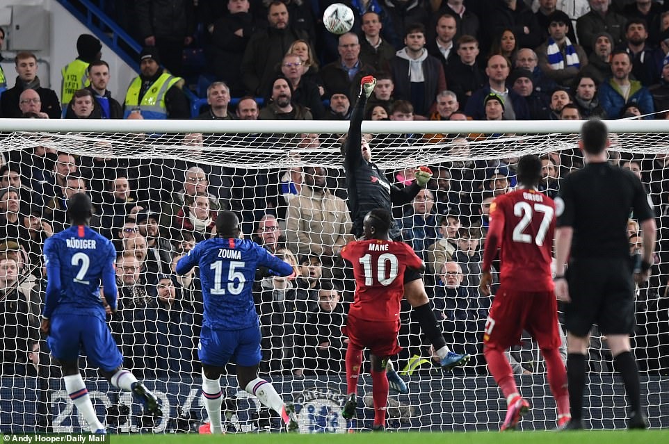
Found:
[[[224,367],[234,362],[243,367],[260,363],[260,327],[241,330],[213,330],[202,326],[198,344],[200,362],[214,367]]]

